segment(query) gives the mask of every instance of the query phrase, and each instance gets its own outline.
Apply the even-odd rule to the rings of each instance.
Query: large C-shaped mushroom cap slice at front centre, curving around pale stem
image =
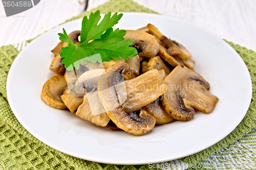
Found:
[[[123,81],[125,77],[127,78],[127,72],[130,72],[130,68],[125,63],[116,63],[106,69],[106,75],[101,76],[98,85],[99,99],[118,128],[133,135],[143,135],[154,128],[156,119],[143,109],[138,116],[135,112],[126,112],[122,107],[123,101],[120,93],[118,95],[116,92],[116,85],[129,81]]]

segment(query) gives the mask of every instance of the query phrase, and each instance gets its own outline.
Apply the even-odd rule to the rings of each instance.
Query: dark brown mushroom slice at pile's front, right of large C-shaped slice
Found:
[[[156,119],[157,125],[166,124],[175,120],[168,113],[166,113],[162,105],[158,102],[158,99],[146,106],[143,106],[142,109],[144,109],[147,113],[151,114]]]

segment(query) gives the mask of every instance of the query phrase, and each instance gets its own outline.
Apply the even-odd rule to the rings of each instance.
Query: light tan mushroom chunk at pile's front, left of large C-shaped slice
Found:
[[[83,102],[78,107],[76,115],[101,127],[105,127],[110,121],[99,101],[98,91],[90,92],[83,96]]]

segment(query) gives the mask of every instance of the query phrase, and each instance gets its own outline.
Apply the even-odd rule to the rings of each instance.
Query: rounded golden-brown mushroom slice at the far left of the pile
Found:
[[[42,86],[41,99],[53,108],[66,109],[66,105],[60,98],[66,88],[64,76],[54,76]]]

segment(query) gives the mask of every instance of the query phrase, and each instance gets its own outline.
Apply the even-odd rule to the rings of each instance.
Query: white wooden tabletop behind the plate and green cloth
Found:
[[[84,0],[42,0],[37,6],[6,17],[0,3],[0,46],[44,33],[83,12]],[[88,10],[108,0],[89,0]],[[256,1],[135,0],[163,15],[179,18],[256,51]],[[79,3],[80,2],[80,3]]]

